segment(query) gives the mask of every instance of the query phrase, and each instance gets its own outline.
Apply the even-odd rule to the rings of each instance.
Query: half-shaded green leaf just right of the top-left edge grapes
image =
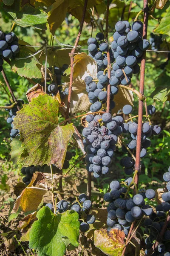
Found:
[[[19,40],[20,52],[17,54],[17,58],[25,58],[33,55],[36,51],[33,47],[26,45],[26,42]],[[34,57],[29,57],[26,59],[16,58],[11,59],[11,70],[17,73],[19,76],[24,76],[27,78],[42,78],[40,69],[37,67],[38,61]]]

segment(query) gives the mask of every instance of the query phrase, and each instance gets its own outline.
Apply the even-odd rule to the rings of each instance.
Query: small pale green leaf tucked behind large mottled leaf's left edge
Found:
[[[20,141],[19,136],[16,136],[10,143],[10,146],[11,146],[10,161],[12,161],[14,165],[17,164],[20,154],[23,152],[23,148],[21,148],[21,144],[22,142]]]

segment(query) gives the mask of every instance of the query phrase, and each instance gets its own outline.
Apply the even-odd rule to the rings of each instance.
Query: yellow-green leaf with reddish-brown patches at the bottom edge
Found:
[[[125,247],[125,233],[118,229],[96,230],[94,232],[94,245],[108,256],[121,256]]]

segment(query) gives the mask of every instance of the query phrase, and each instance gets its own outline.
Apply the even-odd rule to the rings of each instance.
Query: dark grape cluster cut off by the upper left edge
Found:
[[[6,34],[0,31],[0,71],[2,71],[3,58],[15,58],[19,51],[20,47],[15,33]]]

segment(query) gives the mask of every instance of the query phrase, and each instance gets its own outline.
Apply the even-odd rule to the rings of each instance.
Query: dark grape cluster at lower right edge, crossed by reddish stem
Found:
[[[164,181],[166,181],[166,188],[168,192],[162,194],[162,203],[156,206],[156,213],[153,212],[150,218],[144,220],[145,234],[147,238],[145,239],[146,244],[146,255],[153,256],[170,256],[170,224],[164,232],[161,242],[158,244],[157,250],[153,252],[153,244],[161,232],[165,220],[167,218],[167,212],[170,211],[170,166],[168,172],[163,175]]]

